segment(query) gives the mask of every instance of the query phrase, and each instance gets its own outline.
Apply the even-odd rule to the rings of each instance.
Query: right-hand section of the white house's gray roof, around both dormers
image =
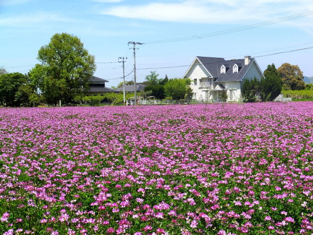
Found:
[[[218,79],[215,82],[241,81],[253,61],[254,58],[251,58],[250,63],[248,65],[245,65],[245,59],[226,60],[225,63],[229,65],[229,69],[226,69],[226,73],[221,73],[221,66],[223,65],[223,63],[218,63],[216,65]],[[238,72],[233,72],[233,66],[235,64],[238,65]]]

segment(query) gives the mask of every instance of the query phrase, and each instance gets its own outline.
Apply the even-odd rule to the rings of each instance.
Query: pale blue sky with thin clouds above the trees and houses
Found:
[[[241,59],[313,47],[309,11],[313,0],[0,0],[0,67],[27,73],[39,63],[40,47],[67,32],[95,56],[94,75],[107,79],[107,87],[122,81],[118,57],[128,58],[126,75],[133,70],[130,41],[145,43],[136,49],[137,82],[150,71],[159,78],[182,77],[196,56]],[[296,14],[306,16],[282,21]],[[255,27],[267,21],[279,23]],[[190,36],[195,37],[164,42]],[[313,48],[256,60],[263,71],[268,64],[290,63],[313,76]],[[126,77],[131,79],[133,73]]]

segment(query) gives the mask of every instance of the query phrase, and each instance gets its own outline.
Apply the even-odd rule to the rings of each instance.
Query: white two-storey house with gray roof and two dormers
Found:
[[[220,102],[222,91],[226,91],[227,101],[240,101],[244,80],[264,75],[251,56],[238,60],[197,56],[183,77],[191,79],[193,99]]]

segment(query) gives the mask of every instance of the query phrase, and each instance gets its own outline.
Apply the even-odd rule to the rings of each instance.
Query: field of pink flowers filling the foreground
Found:
[[[4,235],[313,233],[313,102],[0,109]]]

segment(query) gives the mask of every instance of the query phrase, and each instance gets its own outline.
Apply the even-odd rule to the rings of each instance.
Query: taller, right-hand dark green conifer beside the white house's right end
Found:
[[[264,71],[265,78],[260,81],[260,96],[262,101],[274,100],[282,91],[282,78],[275,65],[268,65]]]

